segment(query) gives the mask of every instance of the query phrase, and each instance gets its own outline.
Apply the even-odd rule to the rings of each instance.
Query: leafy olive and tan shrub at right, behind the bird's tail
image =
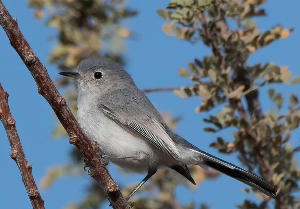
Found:
[[[295,197],[300,169],[293,157],[300,147],[293,148],[289,143],[291,131],[300,121],[298,97],[292,93],[288,110],[282,110],[283,95],[270,88],[268,96],[274,108],[265,113],[258,98],[259,89],[265,85],[291,85],[300,82],[300,78],[291,78],[287,66],[272,62],[247,64],[252,53],[286,38],[293,30],[278,24],[260,31],[253,17],[266,15],[262,8],[265,2],[171,0],[166,9],[158,9],[157,13],[167,22],[162,26],[167,35],[191,43],[202,41],[212,52],[190,61],[187,68],[178,69],[179,75],[191,79],[193,85],[176,89],[174,94],[182,98],[199,97],[201,104],[196,112],[221,106],[221,111],[204,119],[209,124],[204,131],[216,133],[233,128],[233,139],[217,137],[210,146],[223,153],[237,152],[247,170],[267,180],[278,191],[273,201],[261,192],[245,188],[244,192],[253,193],[261,202],[245,200],[238,208],[269,208],[269,201],[274,208],[300,208],[300,200]]]

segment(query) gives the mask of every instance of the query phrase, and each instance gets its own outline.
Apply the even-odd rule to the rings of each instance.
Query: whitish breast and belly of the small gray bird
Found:
[[[92,99],[78,99],[78,122],[89,139],[98,142],[101,154],[128,157],[135,157],[139,153],[146,154],[146,161],[110,159],[120,167],[136,173],[145,173],[150,167],[157,167],[159,160],[155,154],[155,147],[139,135],[126,130],[91,104],[96,102]]]

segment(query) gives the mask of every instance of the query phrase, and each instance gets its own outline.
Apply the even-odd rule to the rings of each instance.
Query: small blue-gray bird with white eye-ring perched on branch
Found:
[[[265,180],[173,133],[131,76],[112,60],[88,58],[77,72],[59,74],[76,78],[78,122],[89,139],[99,143],[103,158],[136,173],[148,172],[126,200],[161,167],[172,168],[195,184],[190,164],[214,168],[275,198],[276,190]]]

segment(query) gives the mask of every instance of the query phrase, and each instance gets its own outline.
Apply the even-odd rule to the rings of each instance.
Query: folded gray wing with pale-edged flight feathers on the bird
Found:
[[[104,95],[98,100],[98,108],[119,124],[143,136],[189,173],[175,143],[167,133],[161,115],[148,98],[138,92],[140,90],[135,90],[124,89]]]

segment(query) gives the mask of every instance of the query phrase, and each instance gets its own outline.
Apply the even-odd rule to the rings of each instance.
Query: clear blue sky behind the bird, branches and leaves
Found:
[[[18,25],[32,46],[35,53],[46,65],[52,79],[57,77],[54,65],[47,63],[48,53],[53,42],[48,41],[49,35],[55,34],[52,28],[45,27],[44,20],[36,20],[32,11],[27,7],[27,1],[3,0],[7,10],[13,17],[18,19]],[[137,9],[139,15],[125,21],[125,25],[137,32],[137,40],[126,41],[126,66],[125,69],[132,75],[139,88],[175,87],[188,85],[191,82],[181,78],[177,74],[178,67],[185,67],[186,63],[194,58],[202,58],[209,50],[201,43],[191,45],[175,37],[169,37],[161,30],[163,20],[156,14],[157,8],[164,8],[169,1],[128,1],[131,8]],[[278,65],[288,65],[293,75],[300,75],[299,49],[300,49],[300,14],[298,8],[300,2],[273,0],[265,5],[268,17],[257,18],[259,29],[268,29],[277,23],[284,27],[294,27],[291,35],[253,54],[249,63],[273,61]],[[283,5],[284,4],[284,5]],[[44,98],[36,91],[35,82],[26,69],[17,53],[11,48],[9,41],[0,30],[1,50],[1,75],[0,82],[10,94],[9,104],[21,143],[28,161],[33,166],[33,174],[40,188],[40,179],[47,168],[53,165],[63,164],[69,161],[69,151],[72,145],[68,139],[51,139],[51,130],[57,119],[52,109]],[[297,89],[300,85],[284,86],[274,85],[281,91],[285,98],[294,92],[299,96]],[[262,88],[260,101],[264,111],[267,111],[271,103],[266,97],[268,88]],[[218,134],[209,134],[202,131],[205,126],[202,119],[207,113],[196,114],[194,108],[199,105],[197,98],[181,99],[171,92],[148,94],[149,99],[159,111],[170,111],[173,115],[183,115],[184,119],[179,122],[176,132],[213,155],[223,158],[237,165],[239,161],[235,155],[224,155],[210,148],[208,145],[218,135],[231,140],[230,131]],[[285,105],[286,107],[286,105]],[[215,110],[217,111],[217,110]],[[300,131],[292,132],[291,142],[294,146],[299,144]],[[6,138],[4,128],[0,125],[0,208],[32,208],[22,183],[15,162],[10,159],[10,146]],[[299,155],[297,155],[299,157]],[[116,171],[116,167],[109,166],[111,174],[116,182],[126,185],[133,181],[140,181],[143,176],[133,174],[129,177]],[[85,185],[89,182],[85,173],[81,177],[64,177],[56,181],[48,189],[40,189],[46,208],[61,208],[67,203],[80,201],[85,192]],[[211,208],[234,208],[235,204],[241,203],[245,198],[257,200],[253,195],[245,194],[241,188],[244,184],[233,180],[225,175],[216,180],[202,182],[195,190],[182,187],[176,189],[179,201],[190,200],[207,203]],[[104,206],[103,208],[109,208]]]

